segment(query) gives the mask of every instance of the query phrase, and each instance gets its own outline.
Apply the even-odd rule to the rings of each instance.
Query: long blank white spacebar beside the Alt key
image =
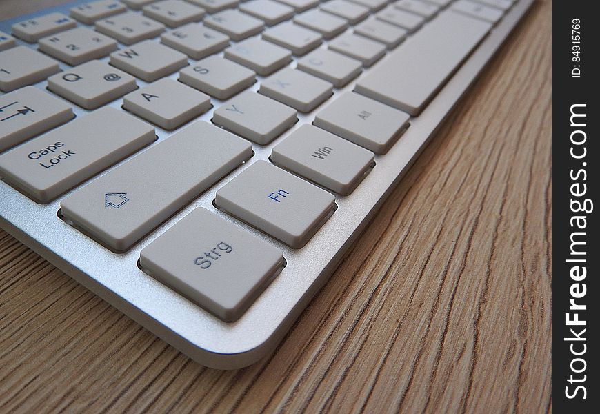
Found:
[[[446,10],[375,66],[354,91],[419,115],[491,27]]]

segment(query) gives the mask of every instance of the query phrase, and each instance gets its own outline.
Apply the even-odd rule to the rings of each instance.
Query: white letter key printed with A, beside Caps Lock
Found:
[[[123,108],[166,130],[179,128],[210,109],[210,97],[170,78],[123,97]]]

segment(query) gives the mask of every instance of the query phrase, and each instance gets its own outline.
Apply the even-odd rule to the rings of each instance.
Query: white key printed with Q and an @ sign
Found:
[[[135,78],[101,61],[89,61],[48,78],[48,89],[95,109],[137,88]]]

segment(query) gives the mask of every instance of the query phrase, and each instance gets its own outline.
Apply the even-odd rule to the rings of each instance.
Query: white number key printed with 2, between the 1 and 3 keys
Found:
[[[117,42],[88,28],[74,28],[39,41],[39,50],[71,66],[105,57]]]

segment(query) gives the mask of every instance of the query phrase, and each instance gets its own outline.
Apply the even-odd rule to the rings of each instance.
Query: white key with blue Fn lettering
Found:
[[[301,248],[335,208],[335,197],[259,160],[217,191],[214,204],[292,248]]]

